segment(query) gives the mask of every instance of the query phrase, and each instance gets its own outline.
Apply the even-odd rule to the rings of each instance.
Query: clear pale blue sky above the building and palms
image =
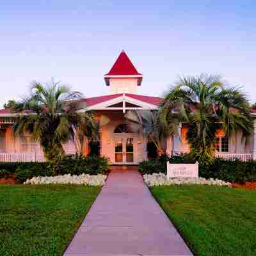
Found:
[[[0,0],[0,107],[32,81],[109,93],[106,74],[124,49],[162,96],[179,76],[223,76],[256,102],[256,1]]]

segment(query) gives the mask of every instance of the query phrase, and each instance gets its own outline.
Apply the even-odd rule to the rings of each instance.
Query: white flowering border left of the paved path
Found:
[[[107,179],[107,175],[97,174],[81,174],[81,175],[59,175],[51,177],[33,177],[26,180],[24,184],[84,184],[90,186],[103,186]]]

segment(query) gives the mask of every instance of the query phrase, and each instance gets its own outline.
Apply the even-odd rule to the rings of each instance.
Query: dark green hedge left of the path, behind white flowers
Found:
[[[54,163],[0,163],[0,179],[15,175],[20,183],[36,176],[95,175],[109,170],[109,159],[98,156],[65,156],[58,164]]]

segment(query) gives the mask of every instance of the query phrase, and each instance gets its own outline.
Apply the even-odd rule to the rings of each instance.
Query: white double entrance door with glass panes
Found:
[[[115,164],[136,164],[136,136],[115,136]]]

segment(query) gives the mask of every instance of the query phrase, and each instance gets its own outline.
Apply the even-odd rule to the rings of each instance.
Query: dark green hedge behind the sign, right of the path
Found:
[[[164,156],[159,159],[141,162],[139,170],[142,174],[166,173],[167,161],[170,163],[195,163],[186,155]],[[243,162],[239,159],[227,160],[216,158],[210,164],[199,164],[199,176],[205,179],[221,179],[232,183],[256,181],[256,161]]]

